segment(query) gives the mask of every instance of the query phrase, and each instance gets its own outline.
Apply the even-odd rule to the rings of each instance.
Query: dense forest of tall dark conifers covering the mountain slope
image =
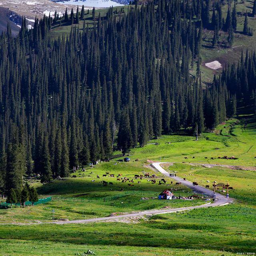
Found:
[[[236,102],[255,92],[256,55],[242,53],[211,86],[202,83],[202,29],[229,31],[231,43],[236,26],[231,10],[223,24],[220,4],[210,23],[209,5],[110,8],[93,28],[84,23],[82,33],[74,28],[54,40],[56,18],[36,19],[32,30],[24,19],[18,37],[8,27],[0,36],[1,191],[21,189],[25,174],[49,182],[109,160],[113,149],[126,154],[161,134],[201,134],[234,117]]]

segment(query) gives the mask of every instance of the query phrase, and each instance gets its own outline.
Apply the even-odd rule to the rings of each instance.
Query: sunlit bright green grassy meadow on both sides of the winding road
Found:
[[[123,158],[119,157],[86,167],[85,171],[80,168],[65,180],[44,185],[38,180],[30,180],[40,197],[52,196],[52,201],[34,207],[0,210],[0,222],[5,223],[0,225],[1,252],[21,256],[68,256],[83,254],[87,250],[96,255],[111,256],[252,254],[256,252],[255,131],[255,117],[240,115],[220,124],[214,133],[202,134],[198,141],[186,131],[151,140],[144,148],[132,149],[131,162],[128,163],[119,162]],[[218,158],[223,156],[237,159]],[[111,222],[33,224],[49,222],[53,218],[76,220],[204,203],[203,200],[169,202],[154,199],[164,189],[173,189],[177,196],[190,195],[192,191],[181,185],[172,185],[173,180],[167,177],[165,185],[158,185],[163,177],[150,167],[151,161],[172,163],[165,164],[164,168],[202,186],[210,185],[211,188],[214,180],[229,182],[233,187],[230,196],[236,200],[227,206]],[[114,178],[103,177],[106,172],[114,174]],[[152,184],[149,178],[134,178],[134,175],[146,172],[156,175],[156,184]],[[117,180],[118,174],[134,182],[122,183]],[[102,180],[113,185],[103,186]],[[142,197],[148,200],[141,200]],[[31,224],[10,224],[17,222]]]

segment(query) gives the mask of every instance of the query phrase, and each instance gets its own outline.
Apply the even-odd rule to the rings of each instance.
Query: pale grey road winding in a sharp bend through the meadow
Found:
[[[160,164],[163,163],[154,163],[152,166],[156,168],[159,172],[169,177],[169,173],[164,170]],[[197,190],[198,192],[205,193],[212,195],[212,190],[203,188],[201,186],[193,186],[192,182],[184,181],[182,178],[176,176],[173,177],[174,180],[178,182],[182,182],[185,186]],[[163,214],[163,213],[171,213],[171,212],[180,212],[185,210],[192,210],[196,208],[205,208],[210,206],[223,206],[226,204],[229,204],[232,202],[231,198],[226,198],[225,196],[222,196],[221,194],[216,193],[217,201],[213,203],[206,203],[198,206],[189,206],[189,207],[181,207],[181,208],[174,208],[174,209],[162,209],[162,210],[150,210],[150,211],[144,211],[144,212],[136,212],[136,213],[130,213],[130,214],[123,214],[118,216],[110,216],[110,217],[103,217],[103,218],[92,218],[87,220],[68,220],[68,221],[51,221],[51,222],[33,222],[33,223],[0,223],[0,225],[34,225],[34,224],[78,224],[78,223],[89,223],[89,222],[101,222],[101,221],[108,221],[108,220],[116,220],[120,218],[129,218],[129,217],[136,217],[136,216],[144,216],[144,215],[152,215],[152,214]]]

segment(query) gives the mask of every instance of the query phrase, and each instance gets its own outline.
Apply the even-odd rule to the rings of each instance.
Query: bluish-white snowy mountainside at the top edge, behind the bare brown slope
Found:
[[[56,3],[72,4],[78,6],[90,6],[90,7],[110,7],[110,6],[122,6],[129,4],[128,0],[52,0]]]

